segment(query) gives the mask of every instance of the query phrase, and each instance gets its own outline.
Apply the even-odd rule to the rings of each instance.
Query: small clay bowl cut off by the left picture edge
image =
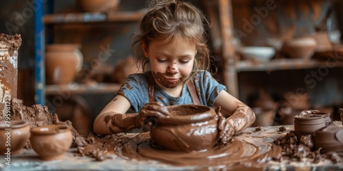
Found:
[[[10,126],[8,127],[8,124]],[[26,120],[10,120],[0,122],[1,155],[20,154],[29,140],[29,122]],[[8,151],[10,148],[10,151]]]

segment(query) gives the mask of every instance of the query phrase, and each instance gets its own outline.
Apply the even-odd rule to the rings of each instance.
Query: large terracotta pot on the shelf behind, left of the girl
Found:
[[[47,83],[65,85],[81,70],[83,55],[80,44],[50,44],[46,47],[45,70]]]

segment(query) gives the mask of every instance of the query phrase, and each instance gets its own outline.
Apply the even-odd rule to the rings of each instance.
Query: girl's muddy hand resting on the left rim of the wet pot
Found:
[[[147,122],[154,120],[153,118],[159,118],[168,116],[169,111],[165,105],[160,102],[147,103],[141,109],[138,116],[136,116],[136,125],[141,127]]]

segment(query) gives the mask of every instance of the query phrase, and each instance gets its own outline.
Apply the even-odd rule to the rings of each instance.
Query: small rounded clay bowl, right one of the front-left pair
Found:
[[[58,124],[36,127],[31,129],[29,140],[40,159],[46,161],[63,159],[71,146],[71,127]]]

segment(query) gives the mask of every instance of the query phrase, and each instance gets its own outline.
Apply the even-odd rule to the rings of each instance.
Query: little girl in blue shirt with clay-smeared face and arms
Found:
[[[152,0],[132,38],[144,73],[130,75],[94,121],[97,134],[139,129],[151,117],[169,115],[166,105],[194,103],[221,110],[220,140],[249,127],[255,114],[209,73],[208,21],[190,3]],[[131,109],[134,114],[126,114]],[[230,117],[229,117],[230,116]],[[225,118],[224,118],[225,117]]]

